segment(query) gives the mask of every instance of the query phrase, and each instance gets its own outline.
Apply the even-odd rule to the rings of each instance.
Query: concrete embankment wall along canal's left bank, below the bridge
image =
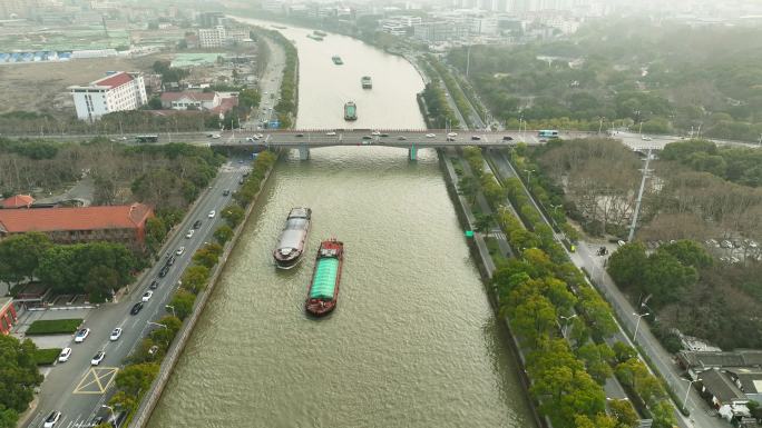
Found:
[[[164,360],[162,361],[162,368],[159,369],[156,379],[154,379],[154,382],[150,386],[150,390],[146,394],[145,398],[140,402],[140,406],[135,411],[135,416],[133,417],[133,420],[129,425],[130,428],[143,428],[148,425],[148,419],[150,419],[150,415],[153,414],[156,404],[162,397],[162,392],[164,392],[164,388],[166,387],[167,381],[169,380],[169,376],[172,375],[175,365],[179,360],[179,357],[183,354],[183,349],[185,349],[185,345],[188,342],[188,339],[193,334],[193,329],[196,326],[196,322],[198,322],[198,319],[204,312],[204,307],[206,306],[209,296],[212,296],[214,289],[217,286],[219,276],[222,275],[222,271],[224,270],[224,267],[227,263],[227,258],[231,256],[231,252],[238,243],[238,239],[242,235],[241,232],[246,222],[248,221],[248,217],[254,210],[254,207],[257,205],[260,196],[262,195],[265,185],[270,180],[270,176],[272,175],[274,168],[275,166],[273,166],[273,168],[271,168],[265,175],[265,177],[262,179],[262,182],[260,183],[260,191],[256,192],[254,200],[252,200],[252,202],[246,208],[243,221],[241,221],[241,223],[235,228],[233,239],[231,239],[225,245],[225,249],[222,256],[219,256],[219,261],[217,262],[212,276],[209,277],[208,286],[196,298],[193,313],[190,313],[188,318],[185,319],[185,322],[183,322],[183,327],[175,337],[175,341],[167,350],[167,354],[164,357]]]

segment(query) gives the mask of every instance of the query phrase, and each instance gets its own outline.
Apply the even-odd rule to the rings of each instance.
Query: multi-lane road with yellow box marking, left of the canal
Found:
[[[250,166],[243,160],[233,160],[223,166],[212,186],[190,208],[185,220],[176,227],[165,246],[165,252],[175,253],[179,247],[185,247],[185,251],[177,256],[166,277],[158,277],[166,260],[165,255],[162,255],[143,280],[131,286],[129,293],[119,302],[101,305],[91,311],[84,325],[91,329],[90,335],[81,344],[75,344],[72,338],[69,345],[74,349],[70,359],[59,362],[50,370],[42,384],[39,404],[25,427],[41,427],[52,410],[62,412],[61,419],[56,424],[56,427],[60,428],[87,427],[96,415],[108,416],[110,410],[101,406],[107,404],[114,391],[114,379],[125,357],[152,329],[162,328],[150,325],[149,321],[156,321],[170,313],[165,306],[169,302],[173,291],[177,289],[183,271],[190,263],[195,250],[204,242],[213,240],[212,233],[224,221],[219,212],[231,202],[232,192],[238,187],[238,181],[247,169]],[[231,195],[223,196],[225,189],[229,189]],[[214,218],[208,217],[212,210],[216,211]],[[185,237],[186,232],[193,228],[196,220],[202,220],[202,225],[188,239]],[[130,308],[140,301],[140,296],[154,279],[159,281],[159,286],[154,290],[153,297],[140,312],[130,315]],[[109,335],[115,327],[121,327],[124,332],[118,340],[110,341]],[[99,366],[90,366],[91,358],[99,350],[106,351],[106,358]]]

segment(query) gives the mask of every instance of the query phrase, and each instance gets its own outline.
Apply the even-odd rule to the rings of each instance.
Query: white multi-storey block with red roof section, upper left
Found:
[[[96,120],[115,111],[137,110],[148,102],[139,72],[118,71],[88,86],[69,87],[80,120]]]

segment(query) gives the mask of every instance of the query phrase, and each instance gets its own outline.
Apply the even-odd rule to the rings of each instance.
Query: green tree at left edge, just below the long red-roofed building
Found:
[[[0,240],[0,280],[18,283],[31,278],[50,247],[50,239],[38,232],[11,235]]]

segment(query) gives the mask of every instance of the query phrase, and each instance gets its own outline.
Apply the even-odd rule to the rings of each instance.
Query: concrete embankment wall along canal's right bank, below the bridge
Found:
[[[471,212],[470,208],[468,207],[468,203],[466,199],[458,193],[457,189],[457,183],[458,183],[458,175],[455,172],[455,167],[452,166],[452,162],[450,161],[450,156],[458,156],[452,151],[444,151],[440,150],[439,151],[439,162],[442,166],[442,169],[444,171],[444,180],[447,182],[447,190],[450,193],[450,197],[453,199],[453,203],[456,206],[456,212],[458,213],[458,219],[460,220],[460,223],[467,228],[468,230],[473,230],[473,225],[476,223],[476,218],[473,216],[473,212]],[[462,161],[466,161],[465,159],[461,158]],[[473,233],[473,239],[470,239],[468,241],[469,248],[471,249],[471,253],[476,258],[477,265],[479,266],[479,271],[482,275],[482,278],[486,282],[485,289],[487,290],[489,301],[492,303],[492,308],[496,311],[496,316],[499,317],[498,310],[498,297],[495,290],[491,287],[491,279],[492,279],[492,273],[496,270],[495,262],[492,261],[492,257],[489,255],[489,250],[487,249],[487,243],[485,242],[483,237],[480,233]],[[524,352],[521,352],[521,347],[518,340],[516,339],[516,336],[512,334],[510,330],[510,324],[508,322],[507,318],[502,319],[505,321],[505,327],[507,329],[506,334],[510,337],[509,344],[510,344],[510,352],[514,356],[514,359],[518,362],[518,368],[519,368],[519,378],[521,379],[521,386],[524,387],[524,391],[529,397],[529,387],[531,386],[531,382],[529,380],[529,377],[527,376],[527,370],[526,370],[526,357],[524,356]],[[537,427],[548,427],[549,421],[547,418],[540,417],[539,412],[537,411],[537,402],[531,400],[530,398],[527,398],[530,402],[530,408],[531,408],[531,415],[535,419],[535,424]]]

